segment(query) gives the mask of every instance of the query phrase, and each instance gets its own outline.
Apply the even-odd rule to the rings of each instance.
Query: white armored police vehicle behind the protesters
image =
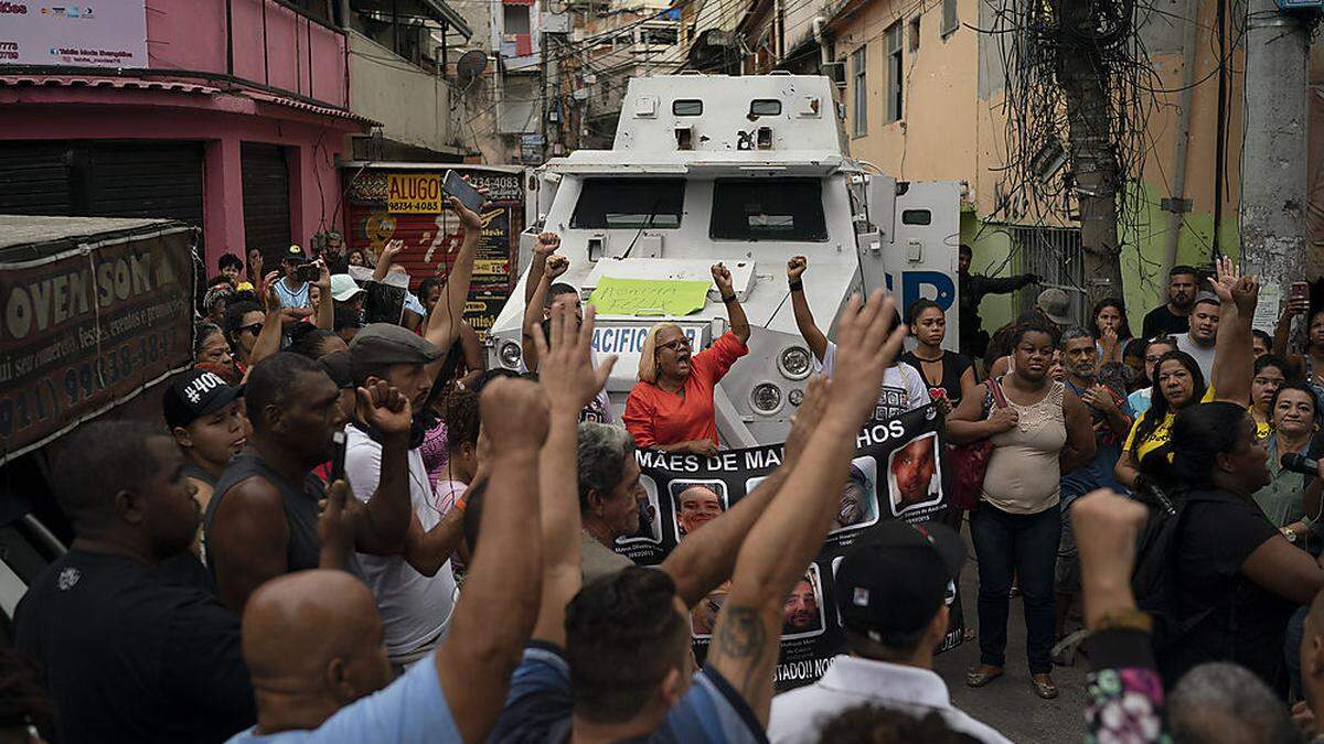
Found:
[[[608,383],[617,413],[654,323],[681,326],[696,352],[726,332],[710,274],[719,261],[753,330],[714,396],[728,447],[784,441],[813,372],[789,301],[793,256],[809,259],[805,293],[829,338],[851,293],[887,287],[902,307],[920,298],[945,307],[955,348],[960,184],[870,173],[850,159],[837,111],[826,77],[634,78],[612,150],[580,150],[539,172],[522,266],[534,236],[549,230],[569,258],[557,282],[584,301],[604,277],[710,282],[704,307],[685,316],[597,315],[594,349],[620,356]],[[491,365],[519,368],[527,278],[493,326]]]

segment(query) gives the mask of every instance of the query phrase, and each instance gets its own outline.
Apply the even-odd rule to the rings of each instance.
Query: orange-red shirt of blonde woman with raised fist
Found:
[[[727,331],[711,347],[690,357],[690,377],[685,396],[669,393],[653,383],[636,383],[625,401],[625,428],[639,447],[674,445],[694,440],[718,442],[718,421],[712,409],[712,388],[749,347]]]

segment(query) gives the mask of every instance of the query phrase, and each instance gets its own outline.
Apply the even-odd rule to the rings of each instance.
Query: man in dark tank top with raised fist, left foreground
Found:
[[[316,568],[316,519],[322,483],[311,473],[332,457],[332,434],[346,417],[340,391],[312,360],[277,353],[256,364],[245,388],[253,433],[230,461],[207,507],[208,568],[221,600],[244,609],[263,581]],[[381,479],[357,511],[354,549],[395,555],[404,549],[409,504],[408,434],[410,406],[395,388],[359,388],[360,410],[384,434]]]

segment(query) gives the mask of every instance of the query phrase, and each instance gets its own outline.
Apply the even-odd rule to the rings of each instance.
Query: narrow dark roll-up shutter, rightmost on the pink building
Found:
[[[245,142],[240,148],[244,172],[244,237],[248,248],[262,249],[262,265],[275,269],[291,242],[290,167],[278,144]]]

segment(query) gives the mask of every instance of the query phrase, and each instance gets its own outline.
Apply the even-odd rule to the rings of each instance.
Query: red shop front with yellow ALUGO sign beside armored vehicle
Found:
[[[511,294],[519,234],[524,230],[524,168],[446,163],[347,163],[347,246],[376,256],[391,240],[404,241],[397,263],[409,271],[409,289],[428,277],[445,278],[459,252],[458,218],[442,208],[441,181],[448,169],[487,189],[474,277],[465,320],[486,338]]]

